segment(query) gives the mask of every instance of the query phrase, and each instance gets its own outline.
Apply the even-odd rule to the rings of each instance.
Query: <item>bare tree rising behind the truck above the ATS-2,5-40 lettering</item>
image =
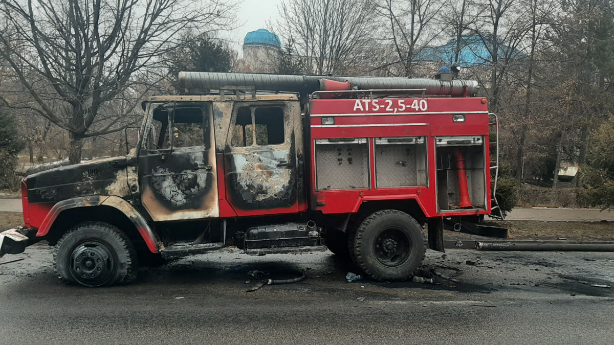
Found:
[[[383,0],[377,11],[384,21],[386,41],[392,45],[392,56],[378,68],[396,66],[392,74],[410,77],[418,63],[416,57],[444,31],[438,21],[440,0]]]

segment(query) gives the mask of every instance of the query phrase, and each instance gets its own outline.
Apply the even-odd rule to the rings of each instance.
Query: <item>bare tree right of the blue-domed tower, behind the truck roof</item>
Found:
[[[360,47],[373,30],[374,11],[368,0],[284,0],[276,31],[294,42],[305,58],[307,72],[343,73],[360,63]]]

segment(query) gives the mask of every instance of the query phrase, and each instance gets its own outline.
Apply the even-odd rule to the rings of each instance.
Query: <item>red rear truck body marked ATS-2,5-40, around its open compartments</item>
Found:
[[[375,104],[374,104],[375,103]],[[411,104],[418,103],[417,109]],[[361,104],[359,106],[357,104]],[[400,105],[399,105],[400,104]],[[363,201],[415,200],[428,218],[442,215],[490,214],[490,203],[481,209],[441,210],[437,204],[437,164],[435,140],[438,136],[476,136],[489,142],[489,115],[485,98],[405,98],[405,99],[316,99],[311,102],[311,152],[316,152],[316,139],[365,138],[369,157],[367,188],[352,190],[319,190],[316,188],[316,162],[312,157],[311,206],[324,214],[357,212]],[[453,115],[464,115],[464,122],[454,122]],[[322,125],[321,118],[332,117],[335,125]],[[427,179],[412,187],[378,187],[376,182],[376,138],[419,137],[426,139]],[[489,157],[489,145],[484,157]],[[428,149],[430,148],[430,150]],[[490,169],[484,169],[489,180]],[[490,195],[485,184],[484,196]]]

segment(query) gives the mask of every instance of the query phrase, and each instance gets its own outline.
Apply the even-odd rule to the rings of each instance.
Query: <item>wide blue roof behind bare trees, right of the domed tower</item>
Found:
[[[489,64],[492,57],[489,53],[490,45],[488,39],[483,39],[480,36],[462,36],[461,51],[459,52],[459,64],[461,66],[471,67],[483,64]],[[421,50],[415,57],[416,61],[432,61],[433,63],[441,63],[449,66],[454,63],[454,50],[456,50],[456,39],[451,39],[446,44],[439,47],[427,47]],[[510,55],[510,58],[520,59],[526,55],[516,48],[508,47],[507,45],[499,45],[500,58]]]

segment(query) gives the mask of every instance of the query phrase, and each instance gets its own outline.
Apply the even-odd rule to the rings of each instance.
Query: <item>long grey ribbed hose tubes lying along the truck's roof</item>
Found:
[[[425,89],[426,95],[472,96],[478,91],[475,80],[439,80],[394,77],[292,76],[284,74],[179,72],[179,87],[188,90],[219,90],[227,86],[254,86],[261,91],[312,93],[320,91],[319,80],[350,82],[362,89]]]

